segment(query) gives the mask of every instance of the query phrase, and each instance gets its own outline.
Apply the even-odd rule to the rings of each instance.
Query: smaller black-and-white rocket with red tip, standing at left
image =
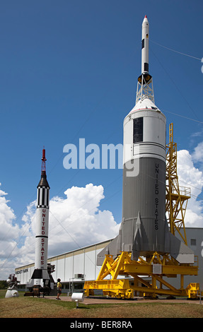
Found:
[[[49,287],[50,275],[47,271],[48,229],[50,185],[47,182],[45,148],[42,150],[41,179],[37,186],[37,212],[35,236],[35,270],[30,287]]]

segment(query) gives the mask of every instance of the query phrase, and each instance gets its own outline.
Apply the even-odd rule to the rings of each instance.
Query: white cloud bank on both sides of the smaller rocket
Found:
[[[102,242],[118,234],[120,225],[117,225],[112,213],[110,211],[101,211],[100,209],[100,201],[105,198],[103,186],[94,186],[93,184],[87,184],[81,188],[72,186],[64,192],[64,196],[63,198],[54,196],[50,200],[48,256],[55,256]],[[0,211],[1,208],[0,197]],[[11,208],[6,205],[4,210],[6,220],[6,213],[8,214],[8,211],[11,212]],[[23,215],[21,230],[18,228],[18,236],[20,237],[21,233],[21,242],[23,239],[23,244],[21,247],[18,247],[19,239],[13,241],[13,249],[15,250],[13,250],[13,253],[6,261],[5,266],[8,268],[4,268],[4,270],[1,270],[1,266],[5,262],[4,259],[11,252],[11,247],[9,247],[8,251],[4,251],[4,246],[1,247],[0,273],[2,275],[2,272],[4,272],[4,278],[8,278],[9,273],[14,273],[11,270],[14,270],[15,267],[35,261],[35,213],[36,201],[33,201]],[[11,214],[11,217],[7,219],[8,223],[6,225],[9,227],[14,219],[15,215]],[[13,225],[11,227],[14,230],[18,226]],[[11,241],[13,238],[16,238],[14,233]],[[6,238],[6,241],[8,242],[8,238]]]

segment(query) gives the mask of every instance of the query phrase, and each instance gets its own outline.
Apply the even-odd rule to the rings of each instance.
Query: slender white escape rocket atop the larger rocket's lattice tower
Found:
[[[141,73],[149,73],[149,22],[146,16],[141,29]]]

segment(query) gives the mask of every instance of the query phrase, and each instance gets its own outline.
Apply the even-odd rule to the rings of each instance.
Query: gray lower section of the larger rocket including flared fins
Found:
[[[132,260],[157,251],[169,253],[179,263],[194,263],[193,251],[172,235],[166,221],[166,165],[156,158],[141,158],[139,174],[128,177],[123,170],[122,223],[119,235],[97,257],[102,265],[105,254],[114,258],[121,251],[131,251]]]

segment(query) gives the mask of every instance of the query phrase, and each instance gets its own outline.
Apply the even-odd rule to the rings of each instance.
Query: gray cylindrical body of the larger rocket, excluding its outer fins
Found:
[[[135,177],[127,176],[129,166],[124,165],[122,198],[123,251],[132,251],[132,259],[138,259],[139,251],[166,251],[166,164],[158,158],[135,162],[139,163]]]

